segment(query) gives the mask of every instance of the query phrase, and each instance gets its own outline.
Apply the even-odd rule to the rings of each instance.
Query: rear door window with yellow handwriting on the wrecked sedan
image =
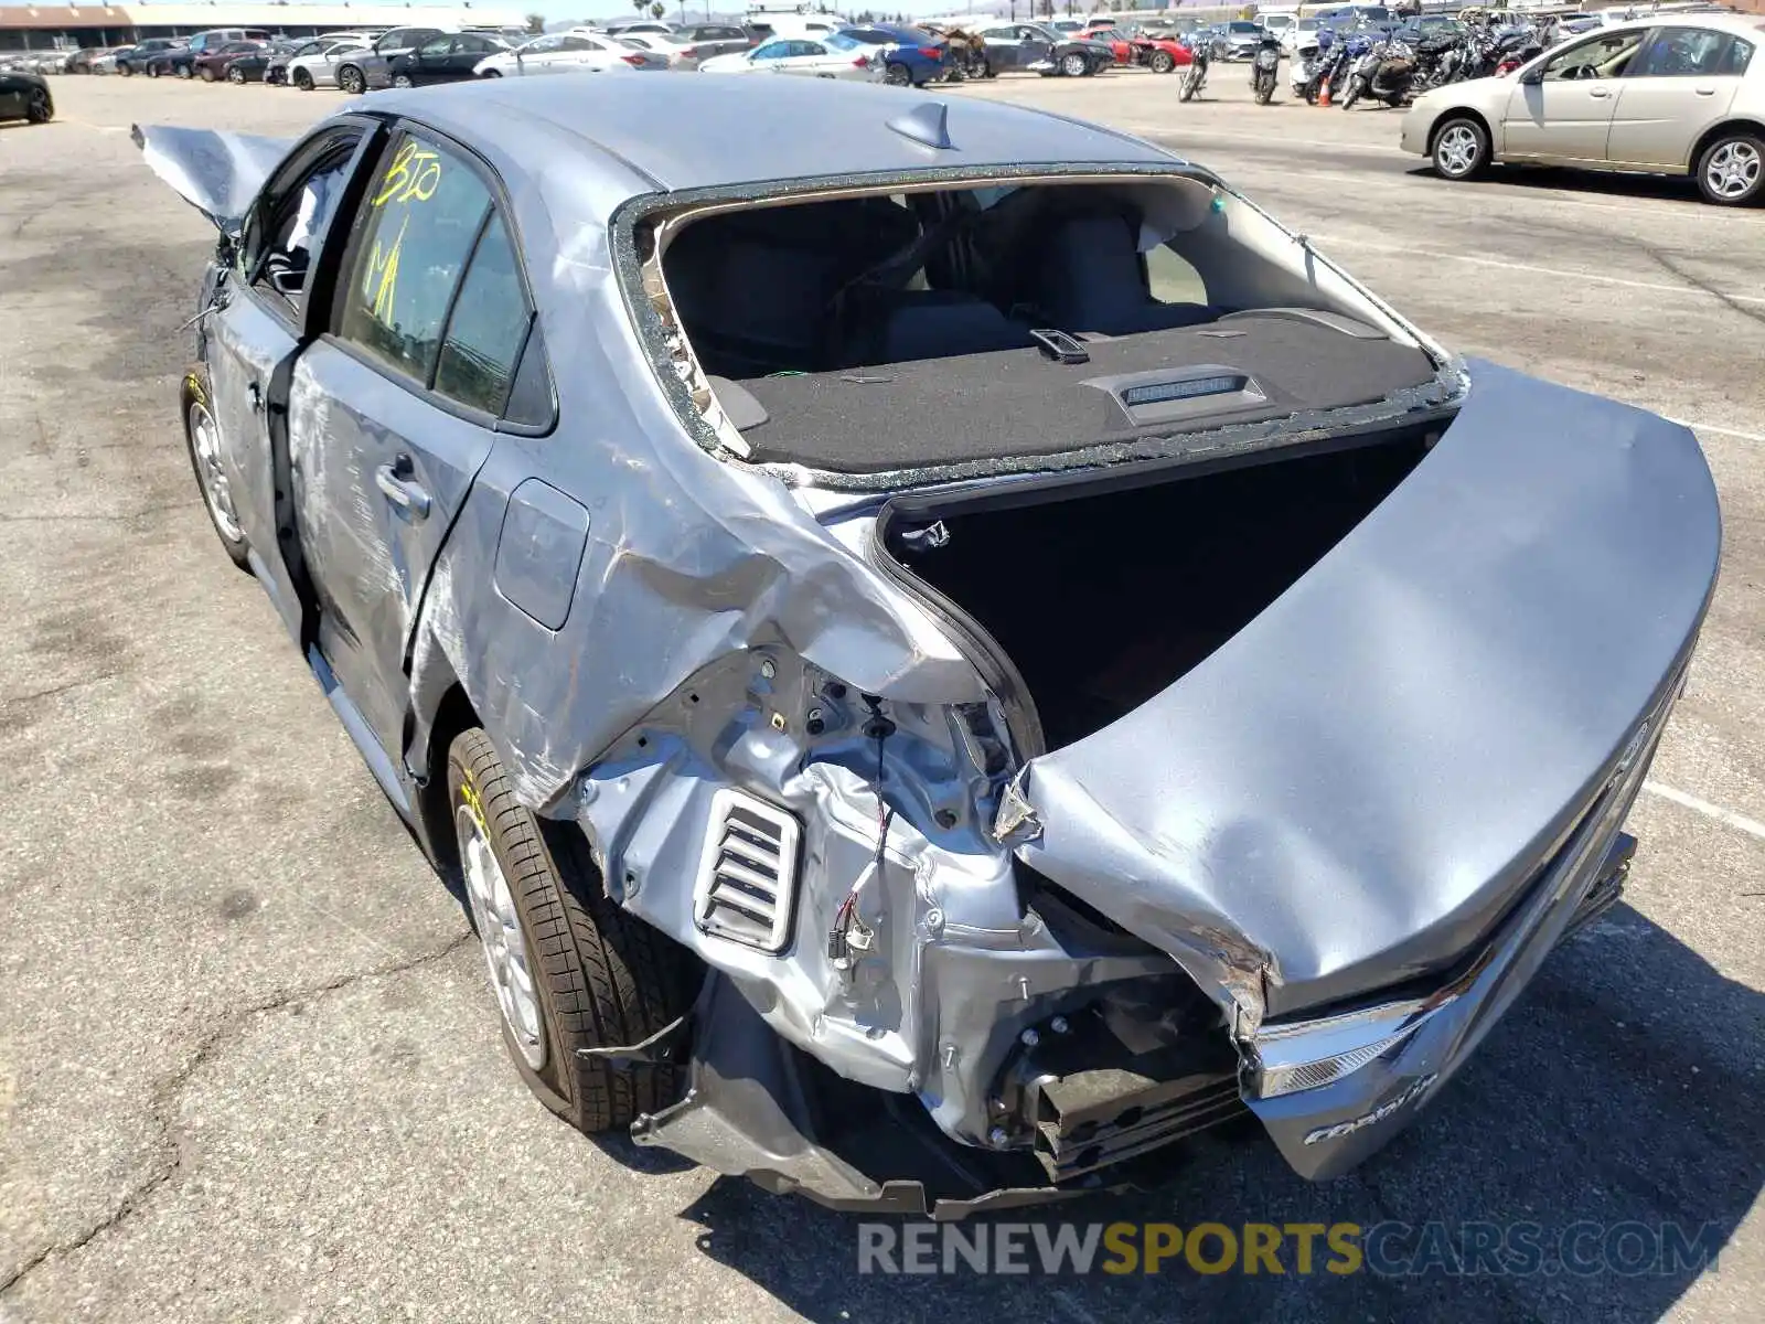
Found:
[[[369,184],[337,334],[429,385],[454,286],[489,207],[466,164],[402,138]]]

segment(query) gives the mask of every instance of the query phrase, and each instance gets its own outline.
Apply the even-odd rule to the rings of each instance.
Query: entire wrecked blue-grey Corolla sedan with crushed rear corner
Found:
[[[1619,893],[1696,440],[1449,357],[1138,139],[650,81],[136,132],[221,229],[214,526],[517,1070],[851,1209],[1246,1112],[1361,1162]]]

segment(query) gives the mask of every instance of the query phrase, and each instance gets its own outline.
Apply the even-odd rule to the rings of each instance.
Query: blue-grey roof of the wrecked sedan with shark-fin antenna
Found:
[[[888,127],[934,101],[821,78],[508,78],[376,92],[372,108],[431,124],[522,173],[542,164],[528,159],[538,120],[630,166],[632,196],[854,171],[1179,161],[1110,129],[995,101],[946,101],[946,150]],[[805,124],[817,132],[801,132]]]

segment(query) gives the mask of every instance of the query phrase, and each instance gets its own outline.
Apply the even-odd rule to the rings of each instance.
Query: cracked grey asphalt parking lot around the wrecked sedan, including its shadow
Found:
[[[457,902],[221,554],[178,434],[212,231],[127,129],[295,134],[342,99],[60,78],[53,125],[0,125],[0,1322],[1758,1319],[1765,210],[1557,171],[1449,185],[1396,152],[1396,115],[1285,87],[1257,108],[1244,83],[950,95],[1158,138],[1453,348],[1687,422],[1723,581],[1627,902],[1414,1128],[1324,1186],[1200,1144],[1172,1188],[1070,1216],[1712,1225],[1716,1268],[860,1276],[845,1216],[565,1130],[505,1061]]]

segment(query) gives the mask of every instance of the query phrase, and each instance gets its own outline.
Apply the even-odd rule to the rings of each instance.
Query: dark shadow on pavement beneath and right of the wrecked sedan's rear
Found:
[[[1077,1324],[1200,1310],[1287,1322],[1656,1320],[1709,1271],[1696,1248],[1714,1264],[1765,1186],[1761,1042],[1765,996],[1619,906],[1548,962],[1417,1125],[1357,1174],[1308,1185],[1250,1128],[1236,1142],[1202,1142],[1184,1176],[1158,1192],[978,1220],[1050,1232],[1059,1220],[1080,1232],[1115,1222],[1400,1223],[1363,1232],[1368,1259],[1377,1239],[1384,1273],[1324,1271],[1334,1257],[1320,1237],[1311,1275],[1297,1273],[1292,1241],[1281,1275],[1202,1275],[1177,1255],[1158,1275],[1115,1276],[1100,1268],[1107,1248],[1089,1275],[1045,1275],[1033,1245],[1033,1268],[1018,1275],[987,1276],[960,1260],[930,1276],[860,1275],[856,1216],[734,1179],[681,1216],[704,1225],[706,1255],[814,1320],[951,1319],[965,1308]],[[1516,1236],[1514,1223],[1537,1227],[1537,1268],[1453,1268],[1479,1236],[1468,1225]],[[1663,1225],[1684,1234],[1689,1268],[1659,1268]],[[1504,1264],[1523,1268],[1525,1255],[1509,1253],[1520,1245],[1502,1243]],[[1218,1259],[1218,1246],[1204,1259]],[[1603,1246],[1615,1268],[1601,1268]]]

